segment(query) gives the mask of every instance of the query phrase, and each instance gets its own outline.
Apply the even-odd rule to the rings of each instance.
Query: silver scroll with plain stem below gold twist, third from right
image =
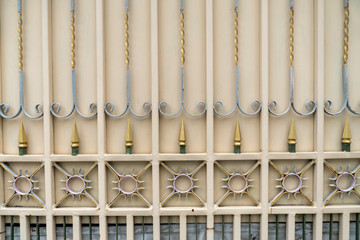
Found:
[[[233,114],[236,110],[236,108],[238,108],[240,110],[241,113],[243,113],[244,115],[247,115],[247,116],[253,116],[253,115],[256,115],[258,114],[260,111],[261,111],[261,107],[262,107],[262,104],[259,100],[255,99],[251,102],[251,107],[252,109],[254,110],[253,113],[247,113],[245,112],[241,106],[240,106],[240,101],[239,101],[239,67],[236,66],[236,70],[235,70],[235,83],[236,83],[236,87],[235,87],[235,106],[234,108],[229,112],[229,113],[221,113],[220,111],[223,109],[223,102],[218,100],[214,103],[214,106],[213,106],[213,109],[214,109],[214,112],[219,115],[219,116],[222,116],[222,117],[227,117],[227,116],[230,116],[231,114]],[[216,106],[219,105],[219,108],[216,109]]]

